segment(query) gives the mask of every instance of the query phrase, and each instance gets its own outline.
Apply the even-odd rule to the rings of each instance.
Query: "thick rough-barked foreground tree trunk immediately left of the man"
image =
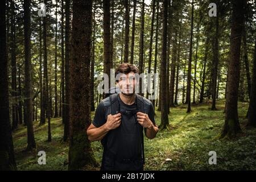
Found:
[[[73,1],[69,170],[96,164],[85,132],[90,125],[91,34],[92,1]]]

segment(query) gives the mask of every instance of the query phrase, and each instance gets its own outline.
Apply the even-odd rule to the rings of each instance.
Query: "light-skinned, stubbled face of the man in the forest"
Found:
[[[117,75],[118,86],[123,94],[126,96],[131,96],[135,93],[135,85],[137,80],[135,78],[135,73],[130,72],[128,74],[119,73]]]

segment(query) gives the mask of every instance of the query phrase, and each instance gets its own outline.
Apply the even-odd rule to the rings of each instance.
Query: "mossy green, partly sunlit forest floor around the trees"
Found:
[[[159,131],[155,139],[144,137],[145,170],[256,170],[256,129],[246,128],[247,102],[238,103],[242,134],[236,139],[218,139],[224,125],[225,100],[217,101],[216,111],[210,110],[210,102],[192,105],[192,113],[186,113],[186,105],[171,108],[170,130]],[[92,118],[94,112],[92,112]],[[156,124],[160,124],[160,112],[156,111]],[[47,124],[34,122],[37,148],[27,152],[26,126],[19,126],[13,133],[15,158],[18,170],[67,170],[68,143],[62,142],[61,118],[52,118],[52,142],[47,142]],[[94,156],[100,164],[102,146],[92,142]],[[38,152],[46,151],[46,165],[38,164]],[[217,164],[210,165],[209,151],[217,154]],[[92,168],[98,170],[99,168]]]

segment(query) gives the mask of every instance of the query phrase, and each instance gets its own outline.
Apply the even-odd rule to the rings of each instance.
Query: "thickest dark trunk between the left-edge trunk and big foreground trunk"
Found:
[[[27,124],[27,150],[36,148],[34,138],[34,128],[32,122],[32,80],[31,80],[31,29],[30,29],[30,0],[24,1],[24,96],[26,105],[26,124]]]

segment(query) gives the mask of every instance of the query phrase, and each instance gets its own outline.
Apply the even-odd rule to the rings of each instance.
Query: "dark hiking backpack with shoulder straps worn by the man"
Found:
[[[113,93],[113,89],[115,89],[115,93]],[[119,88],[110,88],[110,90],[112,90],[112,93],[106,93],[105,94],[105,99],[109,97],[109,100],[105,100],[105,101],[110,101],[110,107],[111,107],[111,114],[117,114],[119,113],[120,110],[120,106],[119,106],[119,101],[118,101],[118,93],[120,92]],[[145,113],[145,111],[147,110],[146,106],[146,100],[139,94],[136,94],[136,99],[137,99],[137,110],[134,114],[136,114],[138,111],[141,111],[142,113]],[[103,158],[102,158],[102,164],[101,167],[104,165],[104,159],[105,159],[105,155],[106,155],[106,143],[107,143],[107,137],[108,134],[105,135],[105,137],[101,140],[102,145],[104,146],[104,150],[103,150]],[[142,137],[142,160],[143,160],[143,164],[144,162],[144,139],[143,139],[143,128],[141,130],[141,137]]]

